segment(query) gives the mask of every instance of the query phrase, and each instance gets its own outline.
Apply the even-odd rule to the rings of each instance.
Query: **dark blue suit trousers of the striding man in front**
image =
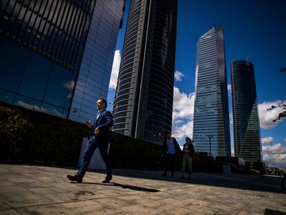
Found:
[[[98,138],[94,135],[90,137],[88,143],[86,144],[86,149],[84,150],[84,156],[82,158],[82,165],[80,166],[79,171],[77,172],[79,176],[84,177],[84,175],[86,174],[90,159],[93,156],[93,153],[95,152],[97,147],[99,149],[100,155],[102,156],[102,160],[104,161],[107,176],[112,175],[111,160],[108,155],[108,143],[100,142]]]

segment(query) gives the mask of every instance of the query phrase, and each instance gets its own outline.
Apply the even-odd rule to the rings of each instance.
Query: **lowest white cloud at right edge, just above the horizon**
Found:
[[[286,168],[286,147],[280,143],[263,147],[263,160],[270,166]]]

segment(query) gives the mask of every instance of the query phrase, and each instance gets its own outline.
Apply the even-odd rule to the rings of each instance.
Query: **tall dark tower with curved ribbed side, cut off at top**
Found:
[[[171,132],[177,0],[131,0],[113,131],[151,142]]]

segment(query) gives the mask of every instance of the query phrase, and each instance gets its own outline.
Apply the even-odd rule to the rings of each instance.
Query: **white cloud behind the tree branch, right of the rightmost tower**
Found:
[[[259,120],[260,120],[260,127],[263,129],[271,129],[276,127],[279,122],[282,120],[278,120],[277,122],[273,122],[278,117],[278,114],[283,110],[280,108],[274,109],[272,111],[267,111],[267,109],[271,108],[271,106],[278,106],[280,104],[285,104],[286,100],[277,100],[274,102],[263,102],[262,104],[258,104],[258,111],[259,111]]]

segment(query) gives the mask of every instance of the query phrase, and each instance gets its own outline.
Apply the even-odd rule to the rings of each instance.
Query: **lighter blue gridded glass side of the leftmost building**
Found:
[[[107,97],[124,4],[124,0],[96,1],[71,104],[70,120],[93,121],[97,100]]]

